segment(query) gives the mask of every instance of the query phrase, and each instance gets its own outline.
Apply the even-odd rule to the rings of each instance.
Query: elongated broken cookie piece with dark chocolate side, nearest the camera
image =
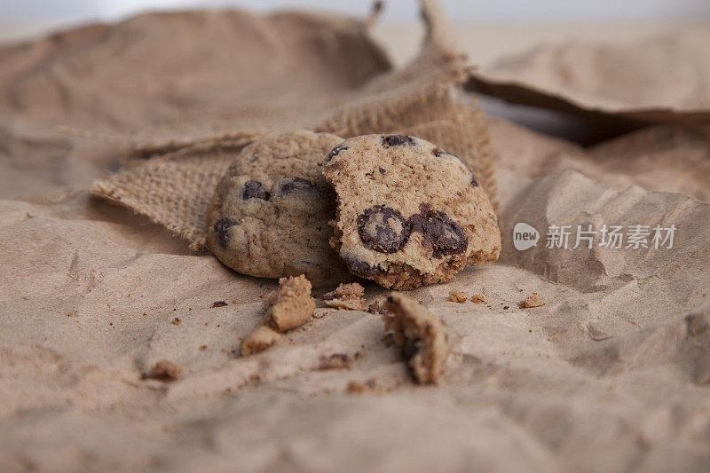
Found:
[[[384,323],[401,347],[414,379],[420,384],[438,382],[449,353],[446,327],[426,307],[398,293],[387,298]]]

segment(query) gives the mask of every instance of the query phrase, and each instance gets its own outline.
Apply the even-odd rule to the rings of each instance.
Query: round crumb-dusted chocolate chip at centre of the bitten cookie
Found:
[[[394,253],[404,247],[409,229],[402,214],[383,205],[375,205],[358,217],[358,233],[366,248],[380,253]]]

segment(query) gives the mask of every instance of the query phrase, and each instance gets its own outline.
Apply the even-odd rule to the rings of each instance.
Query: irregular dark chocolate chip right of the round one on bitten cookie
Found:
[[[460,225],[443,212],[435,212],[428,209],[428,206],[420,208],[422,212],[409,217],[408,225],[412,232],[422,233],[422,243],[431,245],[435,258],[466,251],[469,239]]]

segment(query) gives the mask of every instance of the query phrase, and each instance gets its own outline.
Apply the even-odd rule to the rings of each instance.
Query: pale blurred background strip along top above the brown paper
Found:
[[[367,0],[0,0],[0,39],[12,40],[96,20],[113,21],[139,12],[240,7],[255,12],[309,9],[364,15]],[[710,0],[444,0],[458,22],[482,26],[510,23],[658,23],[710,20]],[[382,21],[411,23],[415,0],[388,0]]]

